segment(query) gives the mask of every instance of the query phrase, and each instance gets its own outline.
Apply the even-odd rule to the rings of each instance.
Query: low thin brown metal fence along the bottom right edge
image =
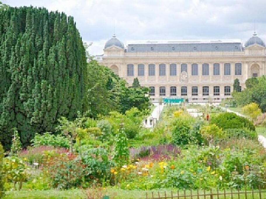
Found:
[[[196,191],[171,191],[171,192],[150,192],[146,193],[146,199],[164,199],[164,198],[175,198],[175,199],[266,199],[266,190],[251,190],[246,189],[240,191],[231,190],[196,190]]]

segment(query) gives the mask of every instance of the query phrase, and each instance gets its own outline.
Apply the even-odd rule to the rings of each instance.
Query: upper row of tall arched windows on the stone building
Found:
[[[242,73],[242,64],[236,63],[234,65],[235,67],[235,75],[241,75]],[[170,75],[175,76],[176,75],[176,64],[170,64]],[[181,73],[183,71],[187,72],[187,64],[181,64],[180,67]],[[144,64],[138,64],[138,76],[144,76],[145,67]],[[127,75],[128,76],[134,76],[134,65],[128,64],[127,65]],[[155,64],[149,64],[148,65],[148,75],[154,76],[155,75]],[[166,75],[166,65],[165,64],[159,64],[159,75],[164,76]],[[198,64],[191,64],[191,75],[198,75]],[[204,63],[202,64],[202,75],[209,75],[209,64]],[[213,75],[220,75],[220,64],[215,63],[213,64]],[[231,64],[225,63],[224,64],[224,75],[231,75]]]

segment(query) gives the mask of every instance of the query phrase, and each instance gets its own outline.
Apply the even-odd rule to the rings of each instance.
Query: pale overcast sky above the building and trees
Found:
[[[72,15],[91,54],[112,37],[129,40],[241,39],[266,41],[266,0],[1,0]]]

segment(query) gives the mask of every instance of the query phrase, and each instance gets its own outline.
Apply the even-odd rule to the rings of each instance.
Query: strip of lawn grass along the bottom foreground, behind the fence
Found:
[[[98,191],[98,190],[96,190]],[[154,198],[159,198],[160,195],[161,198],[164,198],[165,194],[167,197],[171,197],[171,191],[173,191],[173,196],[177,196],[177,189],[159,189],[159,190],[151,190],[151,191],[143,191],[143,190],[122,190],[117,188],[107,188],[105,190],[102,190],[102,193],[110,197],[110,199],[136,199],[136,198],[146,198],[146,193],[148,198],[152,198],[152,192]],[[265,190],[264,190],[265,191]],[[159,192],[159,195],[158,195]],[[223,193],[223,191],[219,191],[220,193]],[[237,192],[236,190],[233,191],[234,193]],[[99,193],[99,192],[98,192]],[[203,191],[199,191],[200,194],[203,194]],[[206,194],[210,193],[210,191],[206,191]],[[217,193],[216,190],[213,189],[212,193]],[[230,193],[230,190],[227,190],[226,193]],[[197,191],[192,191],[192,195],[197,194]],[[184,195],[184,190],[179,190],[179,195]],[[190,190],[186,190],[186,195],[190,195]],[[6,192],[5,199],[18,199],[18,198],[36,198],[36,199],[74,199],[74,198],[87,198],[81,189],[74,189],[74,190],[67,190],[67,191],[58,191],[55,189],[46,190],[46,191],[9,191]],[[95,197],[96,199],[97,197]],[[180,199],[183,199],[184,197],[179,197]],[[188,198],[188,197],[187,197]],[[190,198],[190,197],[189,197]],[[197,198],[197,197],[194,197]],[[199,198],[203,199],[204,196],[200,196]],[[206,196],[206,198],[209,198],[209,196]],[[213,198],[217,198],[217,196],[214,196]],[[223,195],[220,195],[220,198],[224,198]],[[231,198],[231,194],[227,194],[226,198]],[[244,199],[245,194],[240,195],[238,197],[238,194],[233,195],[233,199],[240,198]],[[252,194],[247,194],[247,198],[252,198]],[[258,193],[254,193],[254,198],[259,198]],[[262,193],[262,198],[266,198],[266,193]]]

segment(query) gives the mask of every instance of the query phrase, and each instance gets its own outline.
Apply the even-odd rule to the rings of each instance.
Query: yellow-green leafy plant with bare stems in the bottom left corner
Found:
[[[22,188],[23,182],[27,179],[27,166],[21,159],[16,156],[8,156],[4,158],[3,173],[7,182],[12,182],[14,189],[17,190],[16,184],[18,183],[18,190]]]

